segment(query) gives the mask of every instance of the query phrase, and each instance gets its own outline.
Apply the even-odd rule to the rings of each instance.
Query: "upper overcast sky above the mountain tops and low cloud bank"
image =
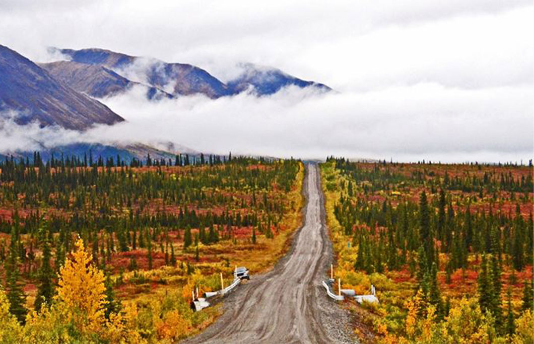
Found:
[[[103,47],[193,63],[225,81],[252,62],[343,91],[480,88],[532,83],[532,14],[523,0],[4,0],[0,42],[37,60],[44,46]]]

